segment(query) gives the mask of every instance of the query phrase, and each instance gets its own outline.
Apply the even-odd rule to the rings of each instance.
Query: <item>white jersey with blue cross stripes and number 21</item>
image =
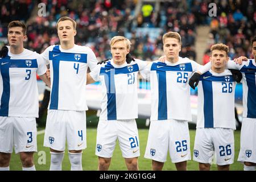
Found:
[[[90,72],[93,80],[102,84],[100,120],[138,118],[137,77],[146,65],[138,59],[122,65],[110,60]]]

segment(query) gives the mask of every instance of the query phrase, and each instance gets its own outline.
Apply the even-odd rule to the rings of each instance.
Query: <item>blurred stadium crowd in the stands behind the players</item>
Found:
[[[24,20],[28,36],[26,48],[41,53],[59,42],[56,22],[61,16],[69,16],[77,22],[76,44],[92,48],[98,60],[111,57],[109,41],[115,35],[131,40],[134,57],[155,60],[163,55],[162,35],[177,31],[183,45],[180,56],[199,61],[195,50],[199,25],[210,26],[203,63],[209,60],[210,46],[218,42],[229,46],[231,59],[251,56],[250,39],[256,35],[255,0],[163,1],[159,11],[155,10],[155,3],[142,3],[136,14],[138,1],[1,0],[0,43],[7,44],[7,25],[11,20]],[[211,2],[217,5],[216,17],[208,14]],[[46,16],[38,16],[39,3],[46,5]]]

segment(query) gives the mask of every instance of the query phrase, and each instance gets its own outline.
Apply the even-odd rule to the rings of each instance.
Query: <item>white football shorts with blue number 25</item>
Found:
[[[144,158],[172,163],[191,160],[188,122],[176,119],[151,121]]]

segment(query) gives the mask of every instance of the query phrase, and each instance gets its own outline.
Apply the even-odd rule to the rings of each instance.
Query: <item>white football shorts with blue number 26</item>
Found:
[[[197,128],[193,160],[224,166],[234,162],[234,130],[224,128]]]

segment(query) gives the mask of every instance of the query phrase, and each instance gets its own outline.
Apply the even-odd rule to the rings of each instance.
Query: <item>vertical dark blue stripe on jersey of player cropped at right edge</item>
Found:
[[[256,81],[255,73],[245,73],[248,86],[247,118],[256,118]]]

